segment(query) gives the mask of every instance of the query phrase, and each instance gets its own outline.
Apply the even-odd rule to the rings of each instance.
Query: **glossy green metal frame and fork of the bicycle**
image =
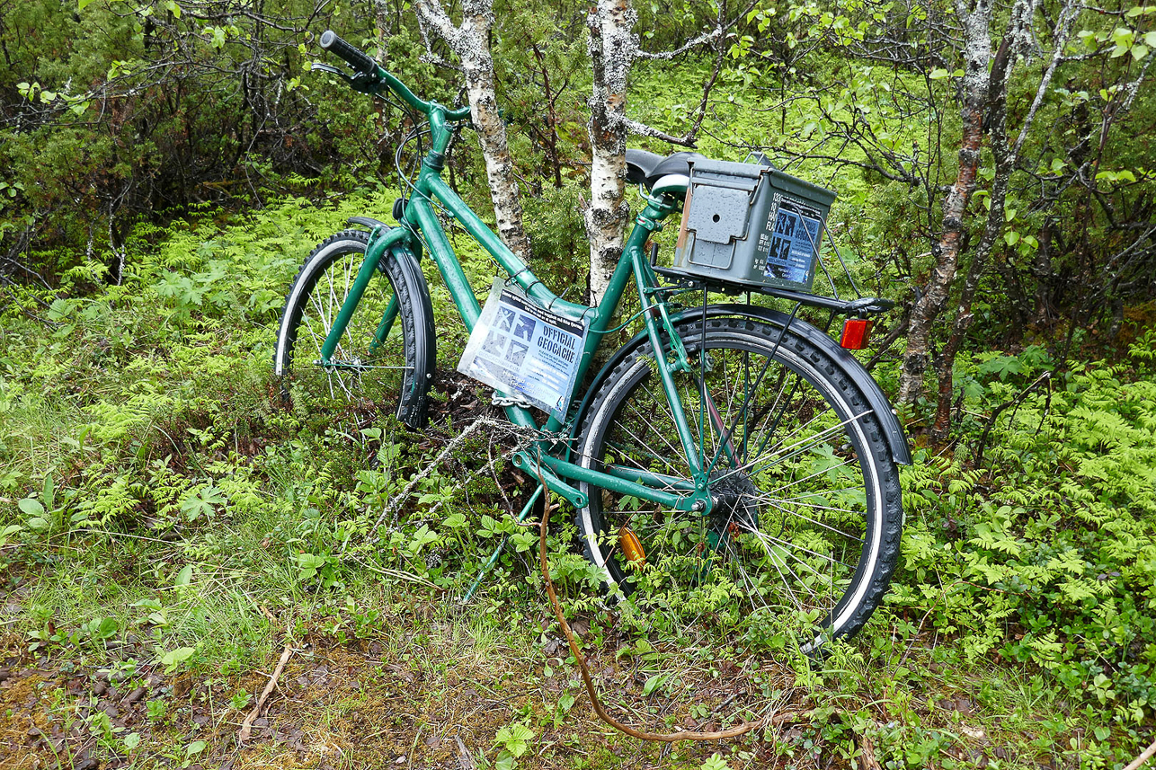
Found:
[[[464,110],[451,111],[432,102],[421,102],[408,89],[403,92],[398,91],[394,87],[397,81],[392,76],[387,80],[385,71],[380,71],[380,73],[383,74],[380,86],[399,92],[399,96],[402,96],[412,106],[417,106],[429,117],[431,147],[422,161],[417,180],[413,185],[412,194],[406,205],[403,222],[401,222],[402,227],[392,229],[376,228],[371,232],[365,259],[323,343],[321,360],[318,363],[323,367],[334,367],[331,363],[333,353],[342,334],[344,334],[354,309],[361,301],[365,288],[373,279],[379,260],[391,247],[402,243],[412,247],[416,246],[418,242],[425,245],[430,258],[442,274],[442,279],[450,291],[450,296],[453,298],[462,323],[466,325],[466,330],[473,332],[481,314],[481,308],[474,296],[473,288],[469,286],[469,281],[466,279],[461,262],[458,260],[449,237],[438,221],[435,212],[435,206],[438,206],[453,216],[465,228],[466,232],[494,257],[498,265],[511,276],[511,281],[517,283],[531,299],[551,312],[576,320],[585,319],[588,321],[590,333],[586,336],[586,343],[578,363],[576,382],[583,382],[594,360],[594,351],[598,349],[602,336],[607,333],[612,320],[615,318],[618,302],[627,286],[631,281],[635,283],[642,304],[642,318],[645,321],[652,348],[662,351],[655,356],[657,369],[662,384],[662,391],[670,403],[679,439],[690,467],[691,480],[674,480],[661,474],[621,468],[609,468],[608,472],[586,468],[551,454],[551,444],[556,444],[556,442],[551,442],[549,438],[539,439],[529,449],[518,452],[514,457],[514,465],[526,469],[532,476],[541,476],[546,481],[547,487],[578,508],[586,505],[586,496],[570,482],[594,484],[617,493],[633,495],[640,499],[659,503],[676,510],[694,511],[696,513],[709,512],[711,510],[711,497],[707,493],[706,472],[703,469],[704,462],[699,457],[692,428],[686,419],[681,398],[674,384],[674,375],[676,372],[694,372],[688,363],[682,341],[675,333],[674,325],[667,312],[666,299],[662,296],[664,290],[659,287],[658,277],[645,258],[644,249],[650,234],[662,228],[662,221],[677,208],[679,201],[674,198],[649,198],[646,207],[635,219],[635,227],[627,238],[623,256],[618,260],[610,276],[606,294],[599,303],[594,306],[586,306],[568,302],[550,291],[534,275],[529,267],[517,254],[510,251],[481,217],[442,179],[445,150],[453,135],[453,128],[447,118],[450,120],[461,120],[465,117]],[[403,86],[401,88],[405,89]],[[378,342],[383,341],[386,334],[388,334],[397,312],[397,303],[391,302],[377,328]],[[664,332],[668,342],[664,342]],[[505,413],[511,423],[523,428],[551,434],[557,434],[566,428],[554,415],[544,424],[538,424],[533,414],[521,406],[506,406]],[[702,425],[698,429],[702,430]],[[672,488],[682,491],[682,494],[669,491]]]

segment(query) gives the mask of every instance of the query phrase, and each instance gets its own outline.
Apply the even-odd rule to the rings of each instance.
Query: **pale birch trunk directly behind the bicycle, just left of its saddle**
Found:
[[[630,207],[625,191],[627,76],[638,54],[635,13],[628,0],[598,0],[586,18],[594,86],[590,98],[591,200],[585,210],[590,238],[590,291],[596,303],[622,256]]]

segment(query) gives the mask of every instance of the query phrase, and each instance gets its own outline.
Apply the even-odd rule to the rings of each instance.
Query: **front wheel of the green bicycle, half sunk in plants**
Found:
[[[317,245],[302,262],[277,331],[274,375],[283,398],[328,399],[392,410],[412,428],[427,422],[427,394],[435,370],[433,311],[413,257],[387,252],[333,353],[319,364],[324,342],[364,261],[369,234],[342,230]],[[376,333],[391,298],[397,320],[384,341]]]

